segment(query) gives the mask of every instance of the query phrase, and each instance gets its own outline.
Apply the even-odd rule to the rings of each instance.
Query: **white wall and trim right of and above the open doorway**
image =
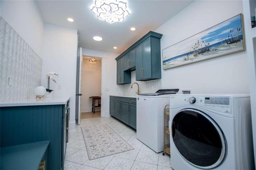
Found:
[[[118,53],[82,48],[85,56],[102,58],[101,117],[109,117],[109,95],[122,95],[122,87],[116,85],[116,60]]]

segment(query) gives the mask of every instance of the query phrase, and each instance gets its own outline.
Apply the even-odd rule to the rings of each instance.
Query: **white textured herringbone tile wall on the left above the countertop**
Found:
[[[35,97],[42,59],[2,17],[0,30],[0,102]]]

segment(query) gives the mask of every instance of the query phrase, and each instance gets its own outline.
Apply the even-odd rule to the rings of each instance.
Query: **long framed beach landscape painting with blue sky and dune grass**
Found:
[[[245,50],[242,14],[162,50],[163,69]]]

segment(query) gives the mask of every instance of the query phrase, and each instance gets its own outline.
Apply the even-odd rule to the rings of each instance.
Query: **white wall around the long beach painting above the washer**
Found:
[[[196,1],[156,30],[163,34],[161,52],[242,12],[240,0]],[[162,69],[162,89],[172,87],[191,93],[250,93],[246,51]]]

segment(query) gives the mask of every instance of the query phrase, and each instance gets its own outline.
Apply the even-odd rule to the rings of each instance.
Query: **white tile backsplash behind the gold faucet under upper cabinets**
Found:
[[[149,80],[149,81],[136,81],[136,72],[131,73],[131,82],[138,83],[140,86],[140,93],[154,93],[162,88],[161,79]],[[131,83],[131,84],[132,84]],[[136,96],[136,91],[138,89],[137,85],[134,84],[131,89],[131,84],[122,85],[123,93],[125,96]]]

